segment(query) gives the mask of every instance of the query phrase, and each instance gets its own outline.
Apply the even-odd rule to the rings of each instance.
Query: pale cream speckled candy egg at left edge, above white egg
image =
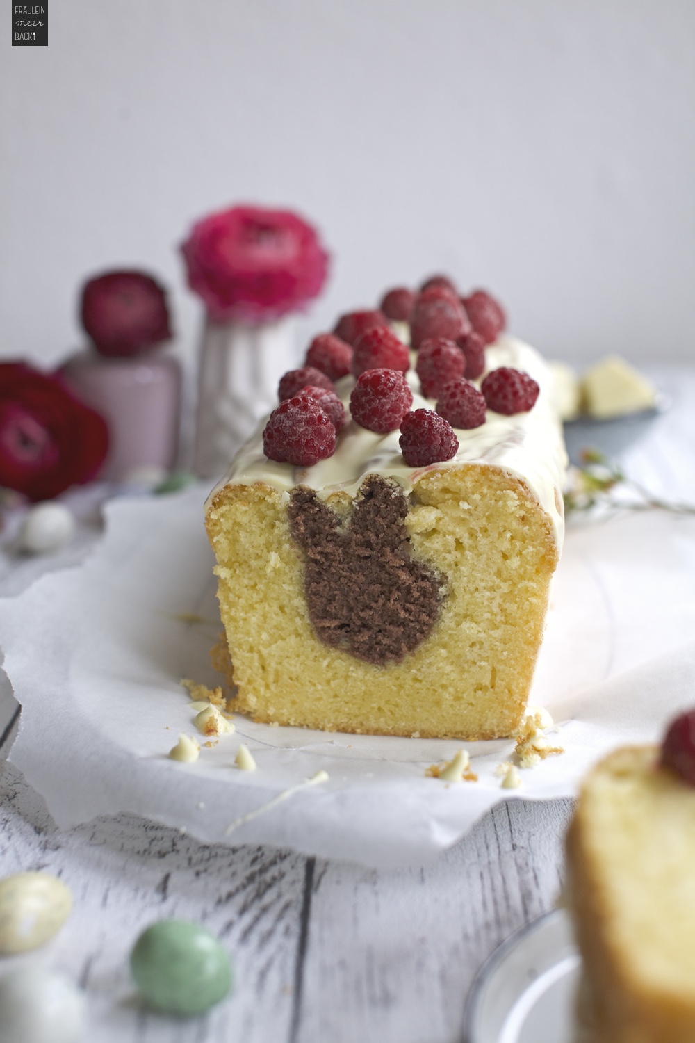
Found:
[[[57,876],[6,876],[0,880],[0,953],[25,952],[48,942],[66,922],[71,908],[70,888]]]

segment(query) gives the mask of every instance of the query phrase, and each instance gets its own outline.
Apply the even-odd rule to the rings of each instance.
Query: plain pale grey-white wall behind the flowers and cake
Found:
[[[51,0],[0,63],[0,355],[57,361],[78,287],[235,201],[333,254],[301,342],[444,269],[554,356],[695,359],[692,0]]]

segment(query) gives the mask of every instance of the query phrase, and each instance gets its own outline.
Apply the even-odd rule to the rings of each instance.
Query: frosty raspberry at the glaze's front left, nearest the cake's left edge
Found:
[[[336,429],[314,399],[287,398],[270,414],[263,451],[269,460],[311,467],[336,452]]]

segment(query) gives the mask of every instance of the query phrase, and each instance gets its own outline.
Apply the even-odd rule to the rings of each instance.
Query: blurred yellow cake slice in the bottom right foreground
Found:
[[[668,761],[654,746],[616,750],[581,787],[566,884],[581,1043],[695,1040],[695,780]]]

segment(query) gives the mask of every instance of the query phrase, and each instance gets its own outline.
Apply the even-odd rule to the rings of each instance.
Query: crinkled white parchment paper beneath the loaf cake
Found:
[[[4,669],[22,703],[10,759],[61,827],[131,811],[209,842],[271,844],[374,867],[432,862],[494,803],[571,796],[602,752],[652,741],[695,704],[695,520],[665,512],[570,527],[531,702],[565,748],[502,790],[514,743],[345,735],[256,725],[193,765],[167,757],[195,734],[181,677],[219,683],[221,627],[202,527],[206,489],[109,504],[78,567],[0,600]],[[183,614],[204,622],[184,622]],[[202,737],[202,736],[198,736]],[[257,771],[233,760],[241,742]],[[477,782],[424,770],[465,746]],[[229,824],[319,770],[329,779],[226,835]]]

